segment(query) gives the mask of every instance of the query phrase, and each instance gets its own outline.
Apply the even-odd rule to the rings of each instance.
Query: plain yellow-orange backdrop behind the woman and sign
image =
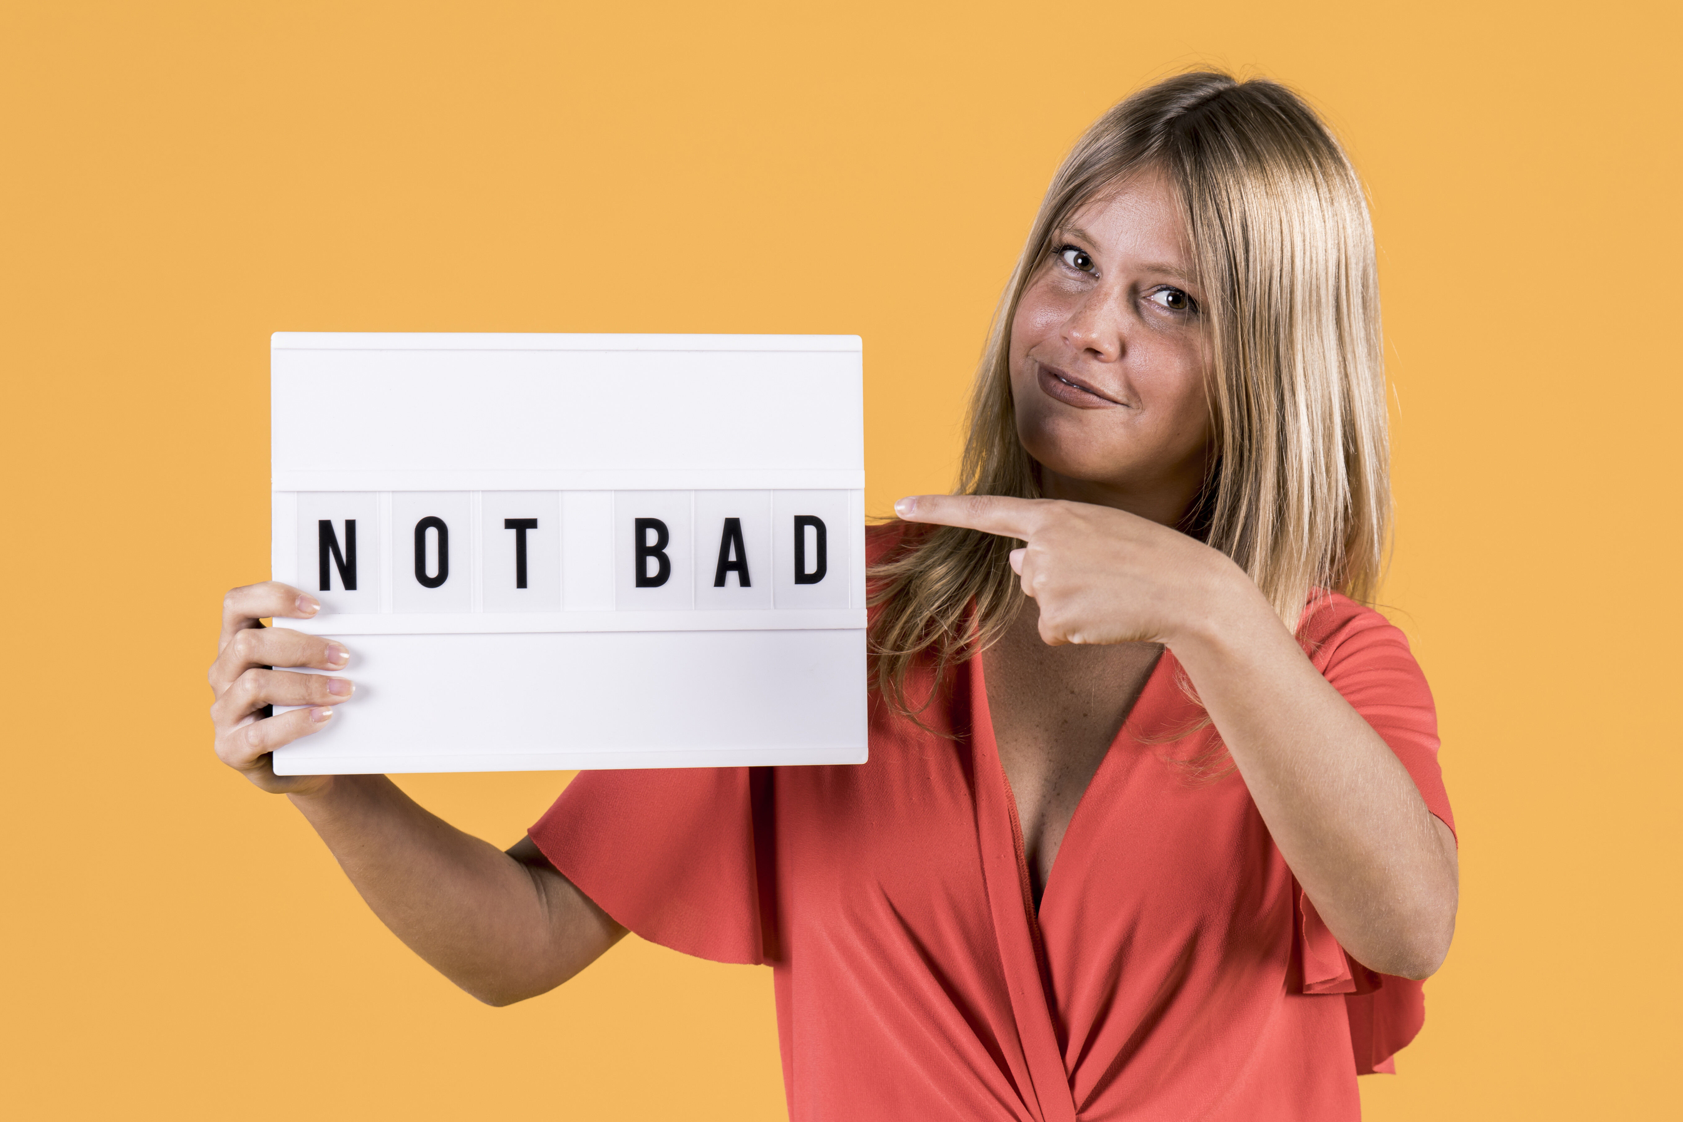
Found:
[[[1197,62],[1306,91],[1373,195],[1385,601],[1464,895],[1368,1117],[1675,1105],[1661,7],[5,5],[0,1114],[783,1117],[767,971],[628,940],[478,1006],[212,757],[217,602],[268,575],[269,333],[858,333],[882,513],[951,479],[1062,151]],[[564,781],[402,782],[508,844]]]

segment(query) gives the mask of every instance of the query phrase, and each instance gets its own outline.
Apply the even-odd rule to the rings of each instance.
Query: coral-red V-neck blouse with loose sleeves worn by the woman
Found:
[[[1402,632],[1331,595],[1299,634],[1452,826]],[[586,772],[532,839],[643,939],[771,964],[796,1122],[1360,1117],[1355,1077],[1392,1070],[1420,984],[1343,952],[1244,781],[1208,760],[1175,658],[1082,796],[1038,915],[985,664],[924,713],[951,738],[873,696],[867,764]]]

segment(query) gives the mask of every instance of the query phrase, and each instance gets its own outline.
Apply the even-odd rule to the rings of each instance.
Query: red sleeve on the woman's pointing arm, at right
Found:
[[[1309,659],[1362,713],[1414,779],[1426,809],[1456,828],[1437,765],[1437,708],[1409,639],[1378,612],[1331,595],[1299,629]],[[1378,974],[1351,959],[1298,890],[1303,992],[1343,994],[1356,1072],[1395,1072],[1394,1056],[1426,1023],[1424,984]]]

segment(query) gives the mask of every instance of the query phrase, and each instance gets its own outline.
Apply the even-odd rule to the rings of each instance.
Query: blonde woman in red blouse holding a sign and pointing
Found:
[[[959,496],[872,530],[870,762],[591,772],[507,855],[384,777],[281,779],[335,643],[236,589],[217,750],[490,1003],[628,929],[776,972],[796,1119],[1351,1119],[1442,962],[1431,695],[1387,530],[1360,185],[1286,89],[1187,74],[1054,178]],[[306,705],[263,718],[264,705]]]

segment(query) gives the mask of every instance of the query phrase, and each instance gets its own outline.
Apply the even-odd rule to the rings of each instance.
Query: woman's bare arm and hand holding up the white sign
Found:
[[[374,913],[444,977],[488,1004],[554,989],[626,932],[555,871],[530,838],[507,853],[429,814],[385,775],[276,775],[274,749],[306,737],[353,695],[332,639],[263,617],[310,617],[315,597],[278,582],[234,589],[210,664],[215,752],[263,791],[286,794]],[[300,705],[268,717],[266,707]]]

